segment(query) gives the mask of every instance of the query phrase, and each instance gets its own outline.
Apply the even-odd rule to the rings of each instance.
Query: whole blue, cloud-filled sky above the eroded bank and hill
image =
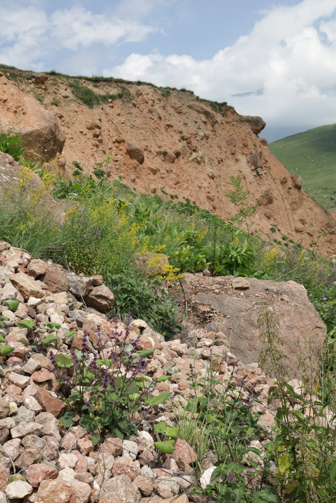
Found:
[[[192,90],[266,122],[336,122],[336,0],[0,0],[0,63]]]

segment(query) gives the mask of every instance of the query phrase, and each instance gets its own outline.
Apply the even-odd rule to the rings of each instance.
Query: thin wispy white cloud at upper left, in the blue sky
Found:
[[[34,6],[1,8],[0,61],[43,69],[41,58],[53,59],[60,49],[80,50],[102,43],[140,42],[156,28],[137,19],[93,14],[82,7],[57,10],[50,16]],[[39,60],[39,61],[38,61]],[[37,62],[38,61],[38,62]]]

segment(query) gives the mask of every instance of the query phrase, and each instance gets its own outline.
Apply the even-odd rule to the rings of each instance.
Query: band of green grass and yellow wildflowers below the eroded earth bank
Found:
[[[109,160],[104,158],[90,176],[75,162],[71,179],[52,161],[22,160],[17,185],[3,195],[1,238],[77,273],[103,274],[116,295],[119,316],[131,312],[138,317],[143,310],[166,333],[176,327],[167,281],[205,269],[213,276],[294,280],[307,289],[328,329],[336,325],[335,264],[318,256],[318,242],[306,250],[251,232],[238,178],[229,194],[239,202],[237,218],[224,221],[187,198],[175,202],[135,194],[119,180],[110,181]],[[40,185],[32,183],[31,170],[40,176]],[[248,211],[253,214],[254,208]],[[147,267],[139,267],[144,262]]]

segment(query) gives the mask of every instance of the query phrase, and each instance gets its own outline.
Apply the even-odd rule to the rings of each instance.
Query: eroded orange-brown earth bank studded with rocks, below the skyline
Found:
[[[58,155],[65,173],[73,172],[73,160],[90,173],[110,155],[112,179],[121,176],[152,194],[164,189],[222,218],[237,213],[225,193],[231,189],[229,177],[240,175],[250,204],[258,204],[254,229],[278,239],[285,234],[304,247],[322,232],[318,250],[325,257],[334,253],[333,213],[307,196],[301,177],[289,174],[257,136],[262,119],[244,118],[226,104],[212,106],[192,92],[146,83],[1,69],[2,127],[21,125],[27,147],[33,147],[33,137],[37,154]],[[96,97],[92,108],[77,97],[85,100],[85,92]]]

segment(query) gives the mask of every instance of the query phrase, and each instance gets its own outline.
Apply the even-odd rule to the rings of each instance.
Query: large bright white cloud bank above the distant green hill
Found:
[[[303,0],[265,12],[249,35],[212,59],[131,54],[103,70],[130,80],[192,89],[228,101],[241,114],[261,115],[279,127],[306,129],[336,119],[336,0]],[[331,19],[330,19],[331,17]],[[259,95],[233,97],[262,90]]]

